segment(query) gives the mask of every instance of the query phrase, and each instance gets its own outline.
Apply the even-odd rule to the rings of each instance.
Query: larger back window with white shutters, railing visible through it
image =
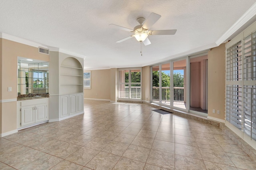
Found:
[[[141,69],[118,71],[118,98],[141,100]]]

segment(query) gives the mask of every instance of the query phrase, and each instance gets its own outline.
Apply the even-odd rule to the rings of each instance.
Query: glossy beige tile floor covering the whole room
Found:
[[[83,115],[0,138],[0,169],[256,169],[219,128],[152,109],[85,100]]]

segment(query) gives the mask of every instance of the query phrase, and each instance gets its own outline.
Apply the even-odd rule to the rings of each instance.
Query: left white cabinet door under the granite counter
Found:
[[[34,106],[21,107],[21,126],[35,123],[34,109]]]

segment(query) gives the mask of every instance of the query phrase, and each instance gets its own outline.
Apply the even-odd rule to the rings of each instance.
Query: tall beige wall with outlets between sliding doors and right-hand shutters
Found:
[[[215,113],[212,113],[215,109]],[[217,114],[220,110],[220,114]],[[208,52],[208,116],[225,118],[225,44]]]

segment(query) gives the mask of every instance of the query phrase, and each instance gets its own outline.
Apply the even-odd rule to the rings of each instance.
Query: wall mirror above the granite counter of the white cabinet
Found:
[[[49,62],[18,57],[18,95],[49,93]]]

